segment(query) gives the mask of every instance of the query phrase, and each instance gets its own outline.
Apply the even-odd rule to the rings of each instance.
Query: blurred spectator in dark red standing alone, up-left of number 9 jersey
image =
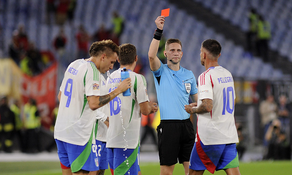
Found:
[[[58,62],[64,63],[65,61],[64,57],[66,55],[65,53],[66,43],[67,43],[67,37],[64,33],[64,29],[60,28],[59,34],[54,39],[54,47],[55,47],[55,50],[57,51],[56,58]]]

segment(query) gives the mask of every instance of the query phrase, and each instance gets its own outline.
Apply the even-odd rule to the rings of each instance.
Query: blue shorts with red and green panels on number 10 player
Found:
[[[190,158],[190,169],[205,170],[212,174],[215,170],[239,166],[235,143],[204,145],[201,141],[194,144]]]

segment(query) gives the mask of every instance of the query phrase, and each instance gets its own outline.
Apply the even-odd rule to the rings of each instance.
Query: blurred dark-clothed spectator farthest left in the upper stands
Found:
[[[9,57],[11,57],[16,64],[20,63],[20,48],[18,42],[18,31],[13,31],[12,41],[9,45]]]

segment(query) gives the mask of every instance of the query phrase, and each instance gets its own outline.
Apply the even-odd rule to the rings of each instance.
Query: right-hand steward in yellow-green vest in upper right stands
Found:
[[[258,55],[263,58],[264,62],[268,62],[270,60],[268,42],[271,39],[271,25],[264,20],[262,15],[259,15],[257,38]]]

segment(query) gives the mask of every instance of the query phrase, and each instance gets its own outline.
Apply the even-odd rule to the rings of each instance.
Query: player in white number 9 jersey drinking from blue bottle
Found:
[[[94,122],[96,109],[107,104],[131,87],[131,79],[122,81],[117,89],[100,95],[100,73],[112,69],[119,47],[111,40],[95,42],[90,58],[72,62],[64,75],[54,138],[58,147],[62,174],[88,174],[97,171]]]

